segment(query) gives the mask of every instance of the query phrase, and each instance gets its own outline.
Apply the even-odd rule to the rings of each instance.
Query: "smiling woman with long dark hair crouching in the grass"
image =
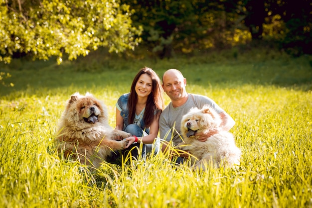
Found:
[[[133,136],[126,149],[114,152],[109,162],[121,165],[121,155],[138,157],[140,143],[143,143],[142,156],[152,152],[152,144],[158,135],[158,120],[164,107],[161,82],[153,69],[145,67],[135,76],[130,93],[122,95],[116,104],[116,129],[124,130]],[[159,141],[157,142],[159,143]],[[138,148],[134,148],[134,147]],[[159,151],[159,145],[154,145],[154,153]]]

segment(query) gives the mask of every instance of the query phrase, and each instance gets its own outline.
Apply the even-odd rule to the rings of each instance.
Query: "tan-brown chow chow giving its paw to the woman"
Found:
[[[98,168],[114,150],[124,149],[131,134],[109,125],[107,107],[90,93],[75,93],[67,101],[58,125],[58,150],[65,157]]]

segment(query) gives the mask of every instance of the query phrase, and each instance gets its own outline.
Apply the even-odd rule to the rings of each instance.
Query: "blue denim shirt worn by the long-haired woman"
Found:
[[[120,110],[120,115],[123,117],[124,119],[124,130],[125,128],[129,125],[129,109],[128,109],[128,99],[129,99],[129,95],[130,93],[126,93],[124,95],[122,95],[116,104],[116,107]],[[150,133],[150,128],[146,128],[145,123],[144,123],[144,119],[142,118],[140,121],[141,124],[141,128],[143,130],[145,130],[145,132],[147,132],[148,134]]]

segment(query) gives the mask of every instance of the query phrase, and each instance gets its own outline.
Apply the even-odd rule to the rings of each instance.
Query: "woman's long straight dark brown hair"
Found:
[[[163,89],[161,87],[160,79],[158,75],[156,74],[156,72],[149,67],[144,67],[143,69],[141,69],[132,82],[129,100],[128,100],[128,109],[129,109],[128,119],[129,119],[129,123],[133,123],[134,118],[135,118],[135,113],[136,113],[136,104],[138,102],[138,94],[136,93],[136,85],[140,76],[143,74],[147,74],[152,78],[152,92],[148,97],[148,101],[146,103],[146,107],[145,107],[145,111],[143,115],[145,127],[149,127],[154,119],[154,116],[156,116],[156,114],[158,113],[161,113],[164,107],[164,101],[162,98]],[[157,112],[156,114],[154,114],[155,110]]]

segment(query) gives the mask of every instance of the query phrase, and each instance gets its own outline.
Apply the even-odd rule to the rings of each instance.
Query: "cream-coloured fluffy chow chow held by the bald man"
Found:
[[[204,163],[212,162],[215,167],[240,164],[241,150],[236,147],[232,133],[220,128],[220,115],[209,105],[202,109],[191,108],[182,117],[181,133],[184,142],[178,149],[189,151],[194,168],[205,170]],[[197,140],[196,132],[208,132],[218,129],[218,133],[207,138],[205,142]]]

